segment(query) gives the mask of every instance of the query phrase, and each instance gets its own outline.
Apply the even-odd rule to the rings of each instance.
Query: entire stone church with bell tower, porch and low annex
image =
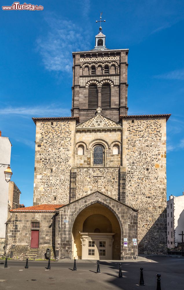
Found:
[[[165,115],[127,115],[128,49],[73,52],[71,117],[33,118],[33,206],[10,210],[5,255],[134,259],[167,248]]]

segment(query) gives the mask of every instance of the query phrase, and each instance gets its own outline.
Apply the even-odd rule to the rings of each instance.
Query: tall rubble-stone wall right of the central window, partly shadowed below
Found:
[[[124,119],[122,136],[125,202],[139,210],[139,249],[157,253],[167,247],[166,120]]]

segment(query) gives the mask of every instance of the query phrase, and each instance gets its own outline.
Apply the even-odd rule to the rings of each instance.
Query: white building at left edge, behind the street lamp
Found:
[[[10,164],[12,144],[8,137],[2,137],[0,131],[0,163]],[[0,164],[0,166],[1,166]],[[8,217],[8,192],[9,184],[5,181],[4,171],[7,166],[0,167],[0,238],[5,238],[5,230]]]

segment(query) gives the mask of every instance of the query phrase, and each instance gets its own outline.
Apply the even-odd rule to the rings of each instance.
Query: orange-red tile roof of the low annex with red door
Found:
[[[39,204],[34,206],[22,207],[19,209],[10,209],[11,213],[54,213],[57,208],[65,204]]]

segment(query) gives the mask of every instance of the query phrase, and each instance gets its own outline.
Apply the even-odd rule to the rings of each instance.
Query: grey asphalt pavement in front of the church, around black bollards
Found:
[[[101,273],[96,273],[94,262],[76,261],[77,271],[73,271],[73,261],[26,261],[0,260],[0,289],[2,290],[76,290],[76,289],[122,289],[134,290],[143,287],[145,290],[157,290],[157,273],[161,274],[162,290],[184,289],[184,257],[147,257],[147,259],[130,262],[122,261],[123,278],[118,278],[118,261],[100,261]],[[139,286],[140,267],[143,267],[145,286]]]

